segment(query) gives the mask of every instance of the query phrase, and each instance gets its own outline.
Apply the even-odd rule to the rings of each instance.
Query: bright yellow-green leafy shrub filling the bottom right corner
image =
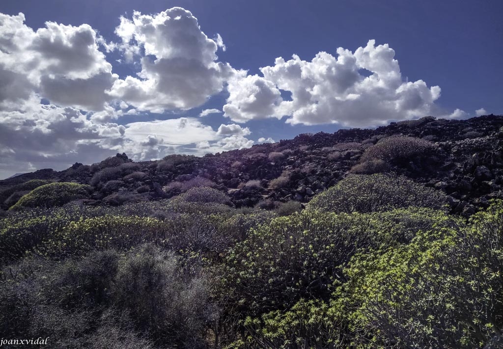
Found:
[[[436,227],[410,244],[356,254],[332,304],[352,345],[474,348],[495,340],[503,325],[502,227],[497,203],[468,227]]]

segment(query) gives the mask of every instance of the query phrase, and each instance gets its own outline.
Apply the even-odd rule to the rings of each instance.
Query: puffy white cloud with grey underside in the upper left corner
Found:
[[[10,93],[0,91],[0,108],[36,92],[61,106],[103,110],[117,75],[93,28],[47,22],[33,31],[24,21],[21,13],[0,14],[0,77],[14,82]]]

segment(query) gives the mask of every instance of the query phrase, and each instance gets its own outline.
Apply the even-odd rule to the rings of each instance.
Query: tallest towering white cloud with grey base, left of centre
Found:
[[[227,63],[217,62],[221,37],[209,39],[201,31],[197,18],[182,8],[155,15],[133,14],[121,18],[116,34],[118,47],[127,60],[139,53],[141,71],[115,81],[110,94],[138,110],[163,112],[191,109],[222,91],[224,82],[235,71]]]

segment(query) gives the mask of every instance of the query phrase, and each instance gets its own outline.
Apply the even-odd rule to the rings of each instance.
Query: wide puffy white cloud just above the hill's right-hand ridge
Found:
[[[294,125],[371,126],[428,115],[440,97],[438,86],[402,81],[387,44],[370,40],[354,53],[343,48],[337,53],[336,58],[319,52],[310,62],[280,57],[261,68],[263,77],[236,79],[229,83],[224,115],[236,122],[288,116]],[[291,100],[283,100],[279,90],[290,92]]]

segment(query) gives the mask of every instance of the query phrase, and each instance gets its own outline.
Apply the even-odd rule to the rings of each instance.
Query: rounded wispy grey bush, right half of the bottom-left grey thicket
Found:
[[[209,302],[206,278],[190,271],[180,268],[172,252],[142,246],[119,268],[114,305],[128,311],[137,329],[159,344],[204,347],[206,323],[215,310]]]

